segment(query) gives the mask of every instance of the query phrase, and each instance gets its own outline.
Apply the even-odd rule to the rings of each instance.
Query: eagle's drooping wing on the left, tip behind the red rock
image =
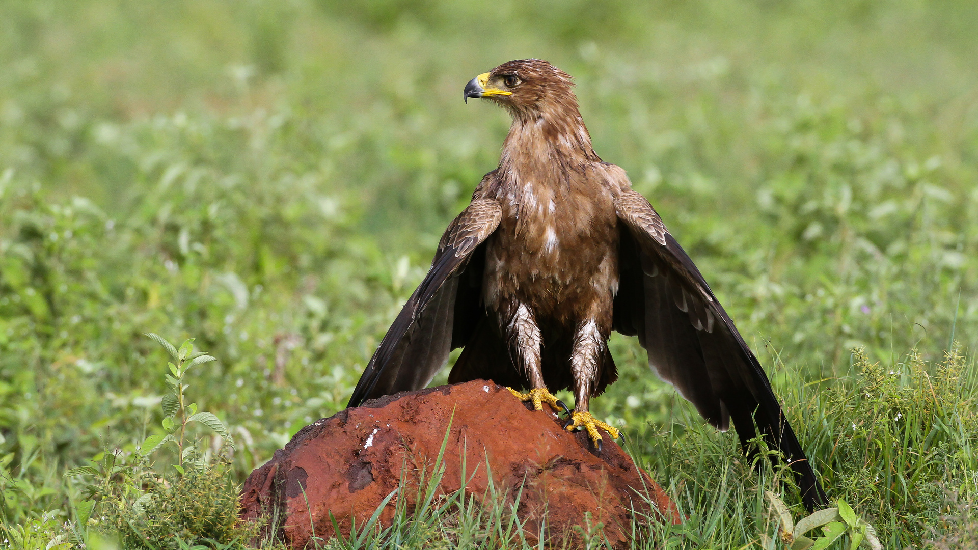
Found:
[[[492,199],[472,201],[445,230],[422,284],[408,298],[353,390],[348,407],[360,406],[367,399],[398,391],[420,390],[431,382],[445,365],[453,347],[465,344],[467,338],[454,335],[453,328],[467,327],[476,312],[457,307],[477,306],[478,285],[471,285],[465,275],[467,266],[481,266],[484,248],[480,245],[496,230],[502,208]],[[480,260],[480,261],[472,261]],[[460,290],[460,285],[462,289]],[[472,292],[472,288],[476,292]],[[466,301],[459,304],[460,298]]]

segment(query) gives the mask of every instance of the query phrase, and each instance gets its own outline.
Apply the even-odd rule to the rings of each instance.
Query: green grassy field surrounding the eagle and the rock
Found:
[[[965,0],[0,0],[0,546],[108,548],[119,510],[182,533],[160,548],[241,546],[139,499],[212,494],[226,519],[227,481],[343,407],[498,161],[508,118],[463,86],[536,57],[576,77],[596,150],[725,303],[830,497],[886,548],[974,547],[976,25]],[[145,332],[217,358],[186,374],[234,440],[187,428],[212,475],[135,452],[171,390]],[[781,547],[780,474],[634,339],[612,351],[593,407],[689,518],[655,540]],[[91,459],[102,481],[64,476]],[[428,518],[403,547],[498,542]]]

